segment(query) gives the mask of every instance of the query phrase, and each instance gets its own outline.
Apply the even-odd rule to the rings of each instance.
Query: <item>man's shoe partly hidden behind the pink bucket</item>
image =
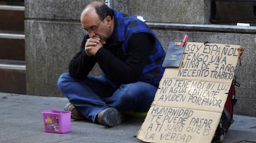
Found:
[[[80,112],[80,110],[78,108],[76,108],[73,104],[71,104],[70,102],[65,105],[64,110],[71,112],[72,119],[85,120],[85,116],[83,116],[83,114]]]

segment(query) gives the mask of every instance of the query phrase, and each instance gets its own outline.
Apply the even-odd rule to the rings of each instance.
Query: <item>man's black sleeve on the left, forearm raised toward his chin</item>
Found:
[[[86,78],[96,63],[94,57],[88,57],[88,55],[85,53],[85,43],[87,41],[86,37],[87,36],[85,35],[83,38],[80,51],[77,52],[77,54],[75,54],[72,60],[69,62],[69,75],[73,78]]]

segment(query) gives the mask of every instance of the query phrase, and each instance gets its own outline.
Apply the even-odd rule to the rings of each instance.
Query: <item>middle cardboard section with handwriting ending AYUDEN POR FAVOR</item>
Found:
[[[230,84],[162,79],[153,105],[222,112]]]

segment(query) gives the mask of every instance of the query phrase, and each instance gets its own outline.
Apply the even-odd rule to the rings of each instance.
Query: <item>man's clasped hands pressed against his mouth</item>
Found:
[[[98,52],[98,50],[101,47],[103,47],[105,43],[106,43],[105,41],[101,42],[100,38],[96,36],[89,38],[87,39],[87,43],[85,43],[85,53],[88,56],[92,56],[92,55],[94,56]]]

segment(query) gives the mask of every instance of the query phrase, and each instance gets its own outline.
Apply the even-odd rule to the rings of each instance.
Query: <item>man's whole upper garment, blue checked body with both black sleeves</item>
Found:
[[[84,47],[89,38],[88,35],[85,35],[80,51],[70,61],[70,75],[74,78],[86,78],[95,63],[98,62],[106,78],[109,78],[109,80],[117,85],[143,81],[158,86],[164,72],[162,63],[165,52],[156,38],[155,33],[141,20],[124,15],[117,10],[114,10],[114,18],[115,27],[113,35],[106,41],[103,48],[99,49],[95,56],[88,57],[85,54]],[[134,37],[133,35],[138,33],[148,33],[151,35],[148,40],[153,39],[149,42],[153,43],[153,46],[150,44],[149,47],[143,47],[143,50],[148,48],[146,51],[149,53],[149,56],[146,57],[147,60],[144,58],[145,62],[143,62],[143,65],[138,65],[134,62],[138,62],[138,59],[144,53],[137,52],[137,55],[132,55],[137,56],[135,59],[129,57],[132,54],[130,51],[137,51],[137,48],[140,48],[130,46],[131,43],[137,43],[136,39],[131,37]],[[131,62],[130,60],[134,61]]]

